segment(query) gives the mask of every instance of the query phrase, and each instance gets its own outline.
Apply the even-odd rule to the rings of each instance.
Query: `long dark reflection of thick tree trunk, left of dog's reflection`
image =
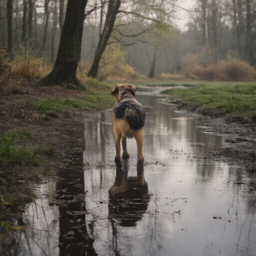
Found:
[[[83,129],[76,131],[83,138]],[[59,255],[97,255],[93,239],[88,237],[85,225],[84,200],[84,139],[66,156],[66,166],[58,172],[57,199],[59,206]],[[79,148],[80,147],[80,148]]]

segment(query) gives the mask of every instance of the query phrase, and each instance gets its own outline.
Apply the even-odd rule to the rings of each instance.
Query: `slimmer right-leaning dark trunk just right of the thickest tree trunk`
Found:
[[[100,35],[99,42],[97,49],[95,51],[93,63],[91,65],[91,68],[88,72],[89,77],[96,77],[98,73],[98,66],[99,66],[99,61],[101,59],[101,56],[104,52],[104,49],[106,47],[107,41],[109,39],[109,36],[113,30],[114,26],[114,21],[116,14],[118,13],[118,9],[120,7],[120,0],[109,0],[108,2],[108,7],[107,7],[107,12],[106,12],[106,19],[105,19],[105,24],[103,31]]]

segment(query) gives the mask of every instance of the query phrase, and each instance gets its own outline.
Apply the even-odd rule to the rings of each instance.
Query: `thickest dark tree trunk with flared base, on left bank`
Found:
[[[73,84],[82,87],[75,73],[80,59],[86,3],[87,0],[68,0],[54,67],[39,81],[39,85]]]

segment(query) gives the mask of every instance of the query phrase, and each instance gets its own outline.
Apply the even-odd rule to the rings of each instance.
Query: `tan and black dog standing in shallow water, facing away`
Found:
[[[136,88],[132,84],[116,84],[111,95],[115,96],[117,102],[112,107],[112,123],[115,138],[116,162],[121,161],[120,140],[122,140],[122,158],[129,158],[127,152],[126,138],[134,137],[137,143],[137,162],[143,162],[143,132],[145,124],[145,109],[135,99]]]

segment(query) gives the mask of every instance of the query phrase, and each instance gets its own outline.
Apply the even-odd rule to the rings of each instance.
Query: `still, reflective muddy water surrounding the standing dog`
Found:
[[[157,89],[137,88],[136,98],[152,106],[144,164],[134,139],[130,158],[116,164],[111,110],[88,114],[85,147],[72,147],[57,184],[42,184],[22,216],[28,229],[15,238],[17,254],[255,255],[252,173],[207,156],[223,137]]]

